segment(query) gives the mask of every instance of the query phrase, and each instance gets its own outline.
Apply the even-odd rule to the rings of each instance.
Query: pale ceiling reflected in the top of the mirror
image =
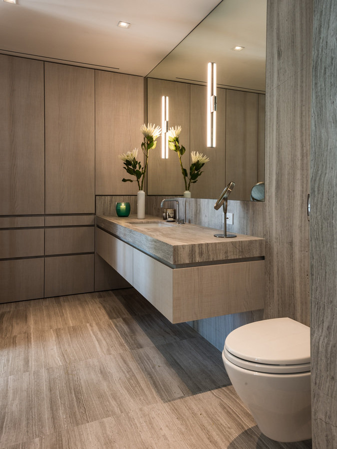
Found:
[[[267,0],[224,0],[149,76],[206,83],[212,61],[218,85],[265,91],[266,25]]]

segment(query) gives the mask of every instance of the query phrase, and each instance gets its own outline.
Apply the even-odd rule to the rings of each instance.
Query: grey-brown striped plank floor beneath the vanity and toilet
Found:
[[[263,436],[221,353],[134,289],[0,304],[0,448],[306,449]]]

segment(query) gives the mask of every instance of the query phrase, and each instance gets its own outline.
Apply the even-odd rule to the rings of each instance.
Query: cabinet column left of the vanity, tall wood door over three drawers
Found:
[[[94,74],[45,62],[45,296],[94,289]]]

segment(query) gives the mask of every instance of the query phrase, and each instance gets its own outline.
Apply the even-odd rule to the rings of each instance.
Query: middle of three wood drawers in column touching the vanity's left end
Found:
[[[95,250],[93,226],[46,228],[44,235],[46,255],[94,252]]]

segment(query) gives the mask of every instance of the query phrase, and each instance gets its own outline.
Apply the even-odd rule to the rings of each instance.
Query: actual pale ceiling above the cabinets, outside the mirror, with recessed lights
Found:
[[[0,0],[0,52],[147,75],[219,0]],[[128,29],[119,20],[131,22]]]

